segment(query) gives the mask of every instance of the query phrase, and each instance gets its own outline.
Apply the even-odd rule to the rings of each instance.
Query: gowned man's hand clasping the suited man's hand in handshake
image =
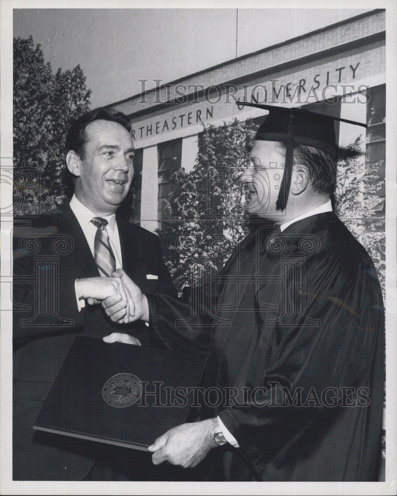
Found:
[[[130,323],[142,319],[149,322],[149,306],[145,295],[139,287],[127,276],[122,269],[112,273],[112,278],[120,279],[130,297],[127,307],[116,295],[111,295],[102,301],[105,313],[113,322]]]

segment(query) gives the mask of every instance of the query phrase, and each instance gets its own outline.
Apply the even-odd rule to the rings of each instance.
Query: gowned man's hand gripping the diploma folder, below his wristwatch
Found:
[[[183,468],[195,467],[216,446],[213,435],[211,419],[182,424],[158,437],[148,449],[155,465],[168,461]]]

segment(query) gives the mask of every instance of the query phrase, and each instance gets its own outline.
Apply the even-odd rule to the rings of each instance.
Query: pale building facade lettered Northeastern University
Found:
[[[384,10],[373,10],[170,83],[142,79],[142,93],[109,105],[132,123],[134,221],[150,231],[159,227],[170,177],[180,167],[192,170],[203,126],[267,114],[239,107],[237,100],[300,106],[367,123],[366,131],[338,124],[339,145],[343,149],[360,137],[360,160],[367,168],[382,162],[378,173],[384,179],[385,18]],[[377,216],[384,215],[384,196],[380,188],[372,207]]]

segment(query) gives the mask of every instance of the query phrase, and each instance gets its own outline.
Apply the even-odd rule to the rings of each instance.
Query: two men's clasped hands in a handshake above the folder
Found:
[[[114,271],[112,277],[77,279],[75,289],[79,300],[86,300],[89,305],[101,303],[113,322],[149,322],[146,296],[122,269]]]

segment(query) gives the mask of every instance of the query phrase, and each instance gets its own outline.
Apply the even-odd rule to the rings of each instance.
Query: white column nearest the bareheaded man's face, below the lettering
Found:
[[[157,202],[159,186],[157,180],[157,145],[143,149],[141,227],[153,232],[159,227]]]

